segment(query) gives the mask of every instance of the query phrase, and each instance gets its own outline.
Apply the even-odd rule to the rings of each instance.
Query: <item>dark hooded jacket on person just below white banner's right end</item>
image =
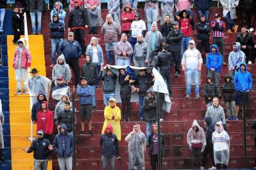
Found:
[[[148,93],[152,94],[151,98],[148,98]],[[146,96],[143,100],[143,106],[144,110],[144,121],[153,121],[157,120],[157,114],[156,114],[156,96],[154,96],[154,92],[151,89],[148,89]]]

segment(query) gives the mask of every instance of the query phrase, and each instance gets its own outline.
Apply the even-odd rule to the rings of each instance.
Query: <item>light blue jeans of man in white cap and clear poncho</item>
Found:
[[[186,69],[186,86],[187,91],[186,94],[191,93],[191,85],[194,83],[195,85],[195,94],[199,94],[199,71],[198,69]]]

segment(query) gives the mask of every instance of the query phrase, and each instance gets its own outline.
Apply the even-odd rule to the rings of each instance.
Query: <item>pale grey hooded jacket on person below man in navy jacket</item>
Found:
[[[63,64],[59,64],[59,60],[62,60]],[[57,81],[58,77],[64,77],[64,81],[71,80],[71,70],[69,65],[66,64],[63,54],[58,57],[57,64],[55,64],[54,69],[52,69],[52,80]]]

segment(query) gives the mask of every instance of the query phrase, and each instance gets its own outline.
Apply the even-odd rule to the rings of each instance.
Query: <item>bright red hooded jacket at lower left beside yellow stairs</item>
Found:
[[[42,103],[46,104],[46,109],[47,109],[45,113],[45,127],[43,127],[43,124],[42,124],[43,110],[42,110],[42,106],[40,106],[40,111],[38,112],[38,115],[37,115],[37,132],[38,130],[44,130],[45,134],[52,135],[52,132],[54,130],[54,115],[52,114],[52,111],[49,110],[47,101],[43,101]]]

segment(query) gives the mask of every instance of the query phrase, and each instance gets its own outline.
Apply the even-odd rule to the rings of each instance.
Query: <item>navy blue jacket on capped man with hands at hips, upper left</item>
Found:
[[[65,60],[72,60],[72,59],[78,59],[82,55],[82,48],[76,40],[73,40],[73,42],[69,42],[67,40],[64,40],[60,47],[59,47],[59,55],[63,54],[65,57]]]

